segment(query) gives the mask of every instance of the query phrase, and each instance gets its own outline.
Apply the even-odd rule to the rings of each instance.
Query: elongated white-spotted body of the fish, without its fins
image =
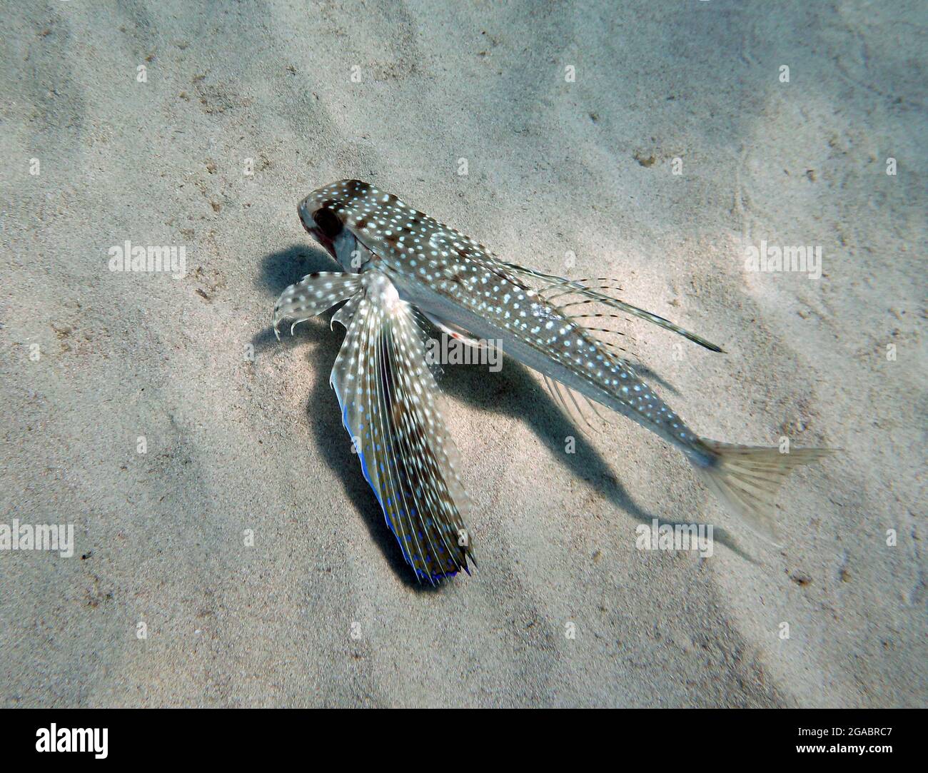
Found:
[[[503,351],[528,367],[638,421],[688,456],[708,457],[631,365],[482,244],[359,180],[310,194],[300,207],[304,222],[323,207],[345,225],[342,243],[369,254],[364,267],[383,272],[409,303],[476,338],[502,341]]]

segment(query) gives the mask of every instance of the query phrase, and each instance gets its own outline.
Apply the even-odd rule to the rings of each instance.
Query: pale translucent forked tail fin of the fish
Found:
[[[702,440],[715,455],[707,466],[694,464],[702,482],[726,507],[757,535],[776,545],[777,510],[775,497],[793,468],[831,453],[828,448],[797,448],[780,453],[779,448],[731,445]]]

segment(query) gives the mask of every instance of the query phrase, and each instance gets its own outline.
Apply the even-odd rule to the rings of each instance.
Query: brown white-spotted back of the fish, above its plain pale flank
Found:
[[[540,288],[529,284],[532,272],[514,270],[518,267],[500,262],[474,239],[360,180],[319,188],[306,201],[310,211],[325,206],[337,213],[342,224],[373,253],[381,271],[425,283],[491,320],[603,393],[605,399],[600,402],[633,416],[672,442],[681,446],[699,443],[628,362],[612,354],[561,305],[544,297],[549,283]],[[682,331],[648,312],[634,309],[631,313],[638,312],[653,322],[666,323],[663,327]],[[632,385],[633,391],[620,387],[620,380]]]

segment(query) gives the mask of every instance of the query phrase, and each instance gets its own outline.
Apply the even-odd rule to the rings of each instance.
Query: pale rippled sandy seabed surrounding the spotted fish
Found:
[[[0,13],[0,523],[74,534],[0,551],[0,704],[925,704],[923,3]],[[419,586],[342,330],[269,326],[331,265],[296,203],[345,177],[720,343],[635,349],[704,436],[842,449],[781,492],[783,548],[507,360],[442,379],[480,566]],[[110,271],[127,240],[184,276]],[[762,240],[820,277],[746,270]],[[713,555],[637,549],[652,519]]]

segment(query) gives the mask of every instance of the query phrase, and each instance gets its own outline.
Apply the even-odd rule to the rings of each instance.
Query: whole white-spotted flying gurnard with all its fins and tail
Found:
[[[298,212],[344,271],[310,274],[284,290],[274,330],[279,337],[280,321],[290,317],[292,333],[347,302],[332,317],[347,333],[330,383],[361,470],[419,579],[470,573],[474,561],[469,500],[426,359],[429,324],[474,346],[501,341],[506,354],[542,374],[569,413],[585,417],[599,404],[664,438],[732,513],[770,540],[780,484],[793,467],[826,453],[717,443],[690,430],[606,340],[609,329],[594,325],[636,316],[722,350],[603,292],[610,280],[571,280],[505,263],[360,180],[320,187]]]

